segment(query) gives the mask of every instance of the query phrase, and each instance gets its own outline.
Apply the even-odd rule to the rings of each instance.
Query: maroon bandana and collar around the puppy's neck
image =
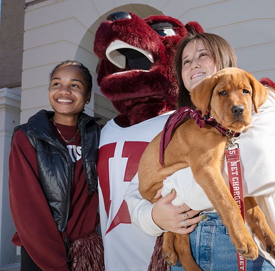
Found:
[[[163,153],[166,149],[168,143],[172,138],[172,131],[176,128],[180,123],[187,120],[187,116],[190,116],[192,119],[196,121],[196,125],[199,128],[205,126],[205,124],[209,124],[216,128],[222,135],[231,134],[232,137],[239,136],[240,133],[233,132],[221,126],[210,114],[210,112],[205,112],[205,115],[202,117],[201,111],[193,110],[190,107],[182,106],[178,108],[175,112],[173,112],[167,119],[160,138],[160,145],[159,145],[159,163],[163,166]]]

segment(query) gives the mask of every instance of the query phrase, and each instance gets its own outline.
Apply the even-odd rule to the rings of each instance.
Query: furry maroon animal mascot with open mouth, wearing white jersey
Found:
[[[167,16],[140,19],[116,12],[95,34],[101,60],[97,83],[119,115],[103,127],[99,143],[99,211],[107,270],[147,270],[155,244],[132,224],[123,196],[139,159],[175,109],[178,88],[173,56],[188,32],[203,32]],[[150,218],[151,219],[151,218]]]

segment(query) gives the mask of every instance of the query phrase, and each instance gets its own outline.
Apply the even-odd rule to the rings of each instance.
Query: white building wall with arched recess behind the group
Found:
[[[33,5],[29,2],[25,1],[20,123],[40,109],[50,109],[48,76],[56,64],[66,59],[82,62],[92,74],[95,96],[86,113],[115,116],[115,110],[96,85],[98,59],[93,54],[93,40],[101,20],[120,10],[141,18],[164,14],[183,24],[197,21],[205,32],[218,34],[232,45],[240,68],[252,72],[257,79],[269,77],[275,81],[273,0],[45,0],[32,1]],[[7,159],[8,152],[4,151],[3,159]],[[0,162],[2,166],[4,163]],[[7,182],[7,174],[4,178]]]

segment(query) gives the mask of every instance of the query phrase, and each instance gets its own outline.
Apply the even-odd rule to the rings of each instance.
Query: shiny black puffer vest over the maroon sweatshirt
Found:
[[[73,181],[73,164],[67,149],[52,131],[49,119],[54,112],[41,110],[30,117],[27,123],[14,128],[13,134],[22,130],[36,150],[40,185],[43,189],[57,228],[64,231],[70,204],[70,187]],[[81,134],[81,158],[84,166],[88,193],[97,189],[96,162],[100,127],[84,113],[78,118]]]

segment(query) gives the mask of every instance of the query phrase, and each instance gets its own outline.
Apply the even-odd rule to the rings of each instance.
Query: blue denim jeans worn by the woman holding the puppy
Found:
[[[201,221],[190,233],[190,243],[196,263],[204,271],[237,271],[236,249],[233,246],[226,227],[217,213],[205,213],[207,221]],[[183,271],[178,261],[171,271]],[[275,271],[275,267],[258,256],[256,260],[246,260],[247,271]]]

